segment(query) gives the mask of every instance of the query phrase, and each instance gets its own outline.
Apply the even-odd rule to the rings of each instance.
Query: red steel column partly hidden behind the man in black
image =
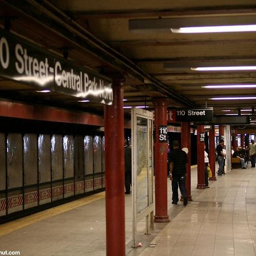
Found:
[[[192,201],[191,197],[191,134],[190,122],[181,122],[181,148],[188,148],[188,164],[187,164],[187,180],[186,188],[188,200]]]

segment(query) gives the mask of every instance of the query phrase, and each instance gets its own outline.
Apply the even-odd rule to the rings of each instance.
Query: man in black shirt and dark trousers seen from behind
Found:
[[[181,196],[183,196],[183,205],[188,204],[186,183],[186,172],[188,158],[187,154],[181,150],[178,141],[172,142],[174,150],[169,154],[170,163],[170,180],[172,181],[172,204],[177,204],[179,201],[178,186],[180,188]]]

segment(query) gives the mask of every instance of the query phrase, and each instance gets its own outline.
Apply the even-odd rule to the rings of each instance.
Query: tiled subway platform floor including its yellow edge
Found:
[[[249,164],[250,166],[250,164]],[[126,197],[127,255],[256,255],[256,168],[233,169],[196,189],[191,170],[191,195],[186,207],[171,204],[169,223],[156,223],[150,235],[138,224],[132,248],[131,195]],[[20,255],[105,255],[105,193],[85,197],[0,226],[0,251]],[[118,255],[117,255],[118,256]]]

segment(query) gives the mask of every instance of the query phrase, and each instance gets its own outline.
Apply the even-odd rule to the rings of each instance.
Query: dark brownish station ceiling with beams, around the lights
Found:
[[[256,89],[206,89],[213,84],[256,84],[256,71],[192,71],[190,65],[256,65],[256,32],[174,34],[170,30],[129,30],[129,20],[209,18],[227,16],[255,19],[255,0],[243,1],[3,1],[1,26],[11,17],[12,32],[104,75],[122,73],[125,105],[147,105],[152,98],[166,97],[168,108],[222,110],[255,108],[256,100],[210,100],[214,97],[252,97]],[[224,17],[224,18],[223,18]],[[249,17],[249,18],[248,18]],[[166,68],[171,65],[172,68]],[[30,98],[32,88],[0,81],[3,97]],[[9,89],[8,89],[8,88]],[[35,96],[35,95],[34,95]],[[34,101],[54,102],[55,97],[36,96]],[[56,102],[56,101],[55,101]],[[60,104],[60,102],[59,102]],[[102,111],[102,106],[81,105],[63,96],[60,105]]]

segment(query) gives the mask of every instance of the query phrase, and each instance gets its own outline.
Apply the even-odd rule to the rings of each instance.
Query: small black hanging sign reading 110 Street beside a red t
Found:
[[[213,120],[213,108],[168,110],[168,122],[202,122]]]

